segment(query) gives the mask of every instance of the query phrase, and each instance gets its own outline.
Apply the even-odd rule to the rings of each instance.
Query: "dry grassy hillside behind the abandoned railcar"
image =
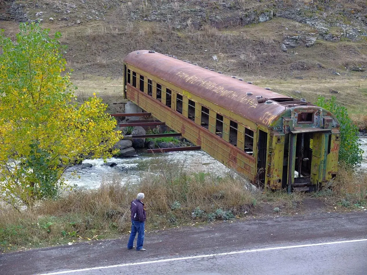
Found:
[[[330,1],[319,1],[313,10],[308,10],[307,1],[303,1],[302,7],[306,8],[301,10],[301,19],[294,20],[283,18],[292,17],[283,14],[299,8],[294,4],[297,1],[278,2],[282,3],[112,0],[78,2],[74,7],[58,1],[18,1],[29,18],[43,18],[44,27],[62,32],[61,42],[68,45],[65,58],[74,69],[74,83],[80,87],[81,96],[100,92],[112,94],[113,101],[119,101],[124,56],[137,49],[154,49],[310,102],[315,102],[318,95],[335,95],[352,113],[363,114],[366,104],[360,103],[367,102],[367,72],[351,68],[360,67],[363,71],[367,67],[365,37],[352,41],[340,36],[337,41],[327,41],[320,36],[317,24],[296,21],[309,16],[310,20],[320,18],[317,20],[329,25],[333,20],[339,22],[334,25],[354,21],[363,24],[352,14],[353,8],[355,12],[364,12],[363,1],[351,1],[349,6],[344,1],[331,1],[339,11],[337,15],[330,11],[330,6],[320,4]],[[275,16],[259,22],[270,10]],[[36,17],[39,11],[45,13]],[[243,23],[250,16],[255,18],[254,23]],[[53,21],[49,20],[51,17]],[[237,17],[242,23],[236,23]],[[1,27],[10,36],[18,30],[14,21],[2,21]],[[337,35],[342,27],[330,27],[328,32]],[[290,37],[300,38],[296,47],[288,47],[284,52],[281,45]],[[306,47],[305,39],[309,37],[317,40]],[[339,93],[331,94],[330,89]]]

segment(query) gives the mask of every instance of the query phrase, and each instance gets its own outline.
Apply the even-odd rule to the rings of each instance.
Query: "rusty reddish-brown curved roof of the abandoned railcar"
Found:
[[[289,107],[313,106],[157,52],[134,51],[124,62],[264,126],[271,125]],[[256,96],[287,104],[274,100],[270,104],[258,103]],[[292,101],[294,104],[289,105]]]

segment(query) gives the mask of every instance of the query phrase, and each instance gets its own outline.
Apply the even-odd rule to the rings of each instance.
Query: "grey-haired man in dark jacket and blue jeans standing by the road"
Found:
[[[137,239],[137,251],[145,251],[143,248],[144,242],[144,227],[145,227],[145,220],[146,220],[146,213],[144,209],[144,193],[139,193],[137,198],[131,202],[131,233],[129,242],[127,243],[127,249],[132,249],[135,246],[134,239],[135,235],[138,233]]]

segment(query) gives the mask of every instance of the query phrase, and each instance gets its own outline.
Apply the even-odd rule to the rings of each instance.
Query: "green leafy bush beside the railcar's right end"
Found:
[[[356,166],[362,161],[363,150],[359,148],[358,128],[349,118],[348,110],[337,103],[335,96],[331,99],[319,97],[317,99],[318,106],[330,111],[337,117],[340,123],[340,150],[339,162],[350,166]]]

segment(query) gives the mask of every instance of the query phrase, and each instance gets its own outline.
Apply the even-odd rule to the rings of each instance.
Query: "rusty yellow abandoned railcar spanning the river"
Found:
[[[316,190],[337,174],[329,111],[154,51],[124,59],[125,96],[252,183]]]

